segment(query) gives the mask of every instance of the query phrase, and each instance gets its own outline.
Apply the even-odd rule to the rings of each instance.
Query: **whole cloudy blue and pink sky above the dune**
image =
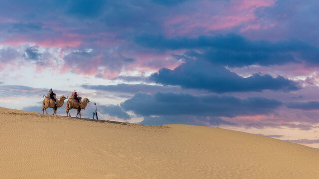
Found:
[[[50,88],[77,90],[91,101],[82,117],[97,102],[103,120],[220,127],[319,148],[318,8],[318,0],[3,1],[0,107],[42,112]]]

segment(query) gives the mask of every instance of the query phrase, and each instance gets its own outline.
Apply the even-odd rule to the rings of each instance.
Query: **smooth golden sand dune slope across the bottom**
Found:
[[[190,125],[0,108],[0,179],[318,179],[319,150]]]

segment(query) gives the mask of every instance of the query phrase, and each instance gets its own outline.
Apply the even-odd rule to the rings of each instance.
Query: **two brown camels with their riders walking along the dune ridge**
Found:
[[[53,93],[52,89],[50,89],[49,93],[46,96],[43,96],[43,98],[44,98],[42,102],[43,114],[44,114],[44,111],[46,112],[46,114],[48,114],[46,109],[52,108],[54,110],[52,115],[54,114],[56,115],[56,110],[63,106],[65,99],[68,99],[68,101],[66,102],[66,115],[71,117],[70,110],[76,109],[78,112],[76,114],[76,117],[80,115],[80,118],[81,118],[81,110],[85,109],[87,104],[90,102],[88,98],[84,98],[82,101],[82,98],[78,97],[76,91],[73,91],[71,97],[66,98],[64,97],[64,95],[62,95],[60,96],[58,100],[56,100],[56,94]]]

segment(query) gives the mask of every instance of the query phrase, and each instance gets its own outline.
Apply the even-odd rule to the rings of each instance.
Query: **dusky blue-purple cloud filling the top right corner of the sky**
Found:
[[[256,36],[272,39],[296,38],[318,44],[318,0],[276,0],[274,5],[255,10],[258,20],[271,28],[256,30]],[[252,35],[252,34],[250,34]]]

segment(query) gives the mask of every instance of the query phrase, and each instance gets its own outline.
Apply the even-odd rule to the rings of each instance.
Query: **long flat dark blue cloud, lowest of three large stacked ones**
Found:
[[[263,97],[240,99],[232,96],[189,94],[137,93],[131,99],[121,103],[126,111],[137,115],[197,115],[211,117],[235,117],[238,115],[268,114],[282,103]]]

